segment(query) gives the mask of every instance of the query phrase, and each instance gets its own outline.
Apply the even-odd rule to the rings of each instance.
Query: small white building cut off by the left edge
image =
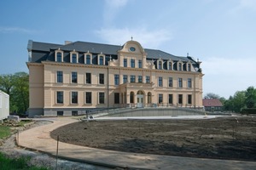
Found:
[[[0,120],[9,116],[9,94],[0,90]]]

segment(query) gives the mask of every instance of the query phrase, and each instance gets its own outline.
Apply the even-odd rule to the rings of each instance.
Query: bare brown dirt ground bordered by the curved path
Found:
[[[256,161],[256,117],[75,122],[51,132],[103,150]]]

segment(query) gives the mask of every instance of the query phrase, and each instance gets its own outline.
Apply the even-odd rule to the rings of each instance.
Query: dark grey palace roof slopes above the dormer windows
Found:
[[[31,40],[29,43],[32,42]],[[55,44],[55,43],[46,43],[46,42],[32,42],[32,51],[42,51],[42,52],[50,52],[56,49],[61,49],[63,51],[75,51],[79,53],[86,53],[90,52],[92,54],[107,54],[107,55],[117,55],[117,51],[119,51],[122,46],[118,45],[109,45],[109,44],[102,44],[96,42],[71,42],[66,45]],[[158,49],[148,49],[144,48],[145,52],[147,53],[147,59],[172,59],[173,61],[183,61],[183,62],[190,62],[192,64],[196,64],[195,60],[191,57],[180,57],[175,56],[172,54],[168,54]]]

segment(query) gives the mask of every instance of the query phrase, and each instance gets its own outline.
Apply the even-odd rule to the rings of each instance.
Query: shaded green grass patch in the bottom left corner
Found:
[[[36,167],[29,166],[28,161],[30,157],[20,157],[17,159],[9,158],[8,156],[4,156],[3,153],[0,152],[0,169],[6,170],[15,170],[15,169],[28,169],[28,170],[48,170],[46,167]]]

